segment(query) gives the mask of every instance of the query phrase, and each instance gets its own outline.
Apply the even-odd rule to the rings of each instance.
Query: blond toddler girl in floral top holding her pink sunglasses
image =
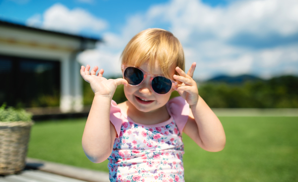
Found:
[[[109,160],[111,182],[184,182],[182,132],[207,151],[221,151],[224,129],[184,72],[179,40],[162,29],[138,33],[122,53],[123,78],[106,79],[103,69],[81,66],[94,92],[82,147],[94,163]],[[128,101],[112,100],[124,84]],[[177,90],[181,97],[169,100]]]

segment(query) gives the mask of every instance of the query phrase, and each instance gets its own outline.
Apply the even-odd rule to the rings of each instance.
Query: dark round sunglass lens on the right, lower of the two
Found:
[[[156,76],[155,78],[153,78],[151,85],[152,85],[152,89],[157,94],[166,94],[172,88],[171,80],[163,76]]]

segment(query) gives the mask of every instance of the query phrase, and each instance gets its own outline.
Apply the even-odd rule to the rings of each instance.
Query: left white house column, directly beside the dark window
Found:
[[[71,62],[70,56],[61,60],[61,97],[60,111],[67,113],[72,111],[72,94],[71,94]]]

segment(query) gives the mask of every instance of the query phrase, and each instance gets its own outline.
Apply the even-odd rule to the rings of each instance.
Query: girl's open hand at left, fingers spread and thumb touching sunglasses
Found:
[[[86,65],[86,68],[81,66],[80,74],[86,82],[90,83],[91,89],[95,96],[109,97],[112,99],[118,85],[128,85],[128,82],[123,78],[106,79],[102,77],[104,71],[103,69],[100,69],[96,76],[95,74],[98,70],[97,66],[94,66],[90,72],[91,74],[89,73],[89,69],[89,64]]]

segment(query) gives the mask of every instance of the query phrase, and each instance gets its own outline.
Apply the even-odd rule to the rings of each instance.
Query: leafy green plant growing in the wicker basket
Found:
[[[8,107],[5,109],[6,103],[0,107],[0,121],[32,121],[32,114],[24,109],[15,109]]]

